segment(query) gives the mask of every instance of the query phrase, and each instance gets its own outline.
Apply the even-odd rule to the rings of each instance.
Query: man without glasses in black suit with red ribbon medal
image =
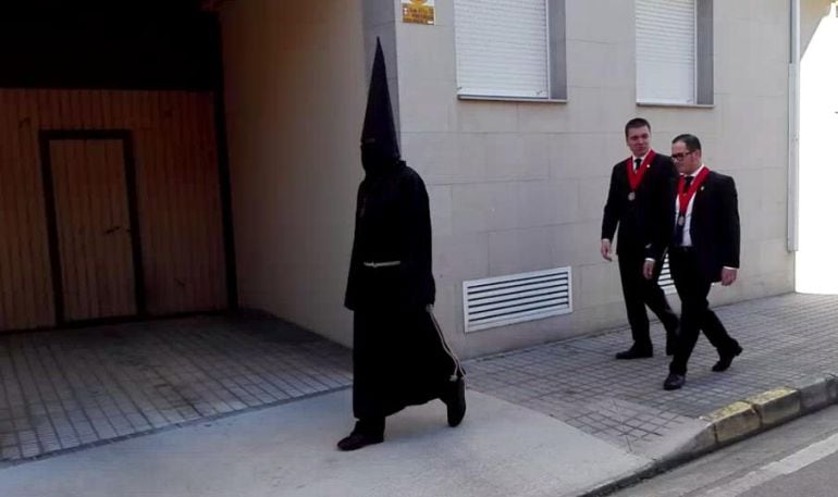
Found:
[[[675,350],[678,316],[666,301],[657,285],[662,264],[653,271],[653,277],[643,277],[645,240],[649,238],[654,208],[667,196],[669,181],[675,177],[675,166],[666,156],[651,148],[651,126],[644,119],[636,117],[626,123],[626,145],[631,157],[619,161],[613,169],[608,199],[602,219],[600,253],[612,260],[612,240],[617,234],[617,259],[623,284],[623,297],[631,326],[632,346],[617,353],[617,359],[652,357],[652,339],[649,336],[646,308],[652,309],[666,328],[666,355]]]

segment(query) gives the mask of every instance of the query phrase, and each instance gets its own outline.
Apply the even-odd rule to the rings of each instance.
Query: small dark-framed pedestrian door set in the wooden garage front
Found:
[[[130,134],[45,133],[41,140],[58,321],[140,313]]]

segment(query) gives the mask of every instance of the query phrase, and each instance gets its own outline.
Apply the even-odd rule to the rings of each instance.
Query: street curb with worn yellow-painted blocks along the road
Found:
[[[811,376],[738,400],[699,417],[706,422],[706,426],[680,448],[632,474],[597,485],[579,497],[606,496],[836,402],[838,375],[833,373]]]

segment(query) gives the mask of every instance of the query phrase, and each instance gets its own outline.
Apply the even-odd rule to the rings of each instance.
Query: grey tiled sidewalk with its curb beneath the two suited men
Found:
[[[838,401],[838,297],[786,295],[717,313],[745,352],[728,372],[712,373],[715,351],[700,338],[688,383],[674,393],[662,389],[667,358],[611,359],[626,346],[628,331],[480,359],[471,383],[652,459],[591,488],[591,496]],[[653,336],[663,336],[655,328]]]

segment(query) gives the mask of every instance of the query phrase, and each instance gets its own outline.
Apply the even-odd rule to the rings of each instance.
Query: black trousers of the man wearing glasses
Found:
[[[702,274],[695,251],[681,248],[670,250],[669,270],[681,298],[681,332],[669,371],[687,374],[687,362],[699,340],[699,331],[704,332],[704,336],[719,353],[736,350],[739,344],[728,335],[725,325],[710,309],[707,295],[713,282]]]

